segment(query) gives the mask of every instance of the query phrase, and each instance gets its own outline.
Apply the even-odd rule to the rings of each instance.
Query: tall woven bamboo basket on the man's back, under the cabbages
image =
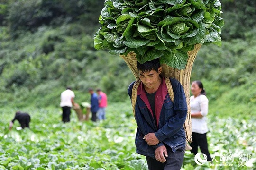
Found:
[[[167,66],[166,64],[162,64],[162,73],[161,75],[164,77],[171,77],[177,79],[181,85],[183,86],[185,96],[186,96],[186,102],[188,106],[188,112],[187,112],[187,119],[184,123],[184,129],[186,132],[186,139],[187,142],[192,142],[192,127],[191,127],[191,115],[190,115],[190,76],[192,71],[193,62],[196,58],[196,55],[198,51],[201,48],[201,44],[196,44],[194,46],[194,49],[192,51],[188,51],[188,61],[185,66],[185,69],[177,69]],[[128,53],[127,56],[125,55],[119,55],[128,67],[131,69],[133,75],[135,76],[136,80],[139,79],[138,70],[137,70],[137,59],[136,54],[134,52]]]

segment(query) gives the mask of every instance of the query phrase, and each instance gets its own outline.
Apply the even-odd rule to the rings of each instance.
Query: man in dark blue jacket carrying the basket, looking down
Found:
[[[186,146],[183,124],[187,103],[183,86],[170,78],[174,92],[171,101],[162,67],[158,59],[143,64],[137,62],[140,85],[137,89],[135,120],[136,152],[146,156],[149,170],[180,170]],[[135,82],[128,87],[131,98]]]

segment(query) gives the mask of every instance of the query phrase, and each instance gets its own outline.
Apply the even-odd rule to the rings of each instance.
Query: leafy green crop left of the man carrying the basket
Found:
[[[64,124],[60,108],[23,108],[31,115],[31,129],[15,129],[16,121],[11,131],[9,113],[15,111],[3,109],[0,170],[146,170],[145,159],[135,153],[130,104],[109,109],[109,118],[119,122],[78,122],[72,110],[71,122]]]

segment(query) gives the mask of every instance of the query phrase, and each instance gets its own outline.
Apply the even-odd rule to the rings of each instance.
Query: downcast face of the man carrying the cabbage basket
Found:
[[[139,79],[145,85],[146,88],[154,88],[159,81],[159,74],[162,68],[158,68],[158,73],[155,70],[147,71],[142,73],[139,70]]]

